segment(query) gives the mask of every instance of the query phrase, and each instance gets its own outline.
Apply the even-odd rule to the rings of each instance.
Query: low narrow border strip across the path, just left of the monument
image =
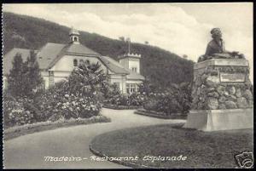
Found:
[[[139,109],[134,113],[139,115],[144,115],[148,117],[158,117],[162,119],[187,119],[187,115],[182,113],[172,113],[172,115],[166,115],[166,113],[159,112],[159,111],[150,111],[145,109]]]

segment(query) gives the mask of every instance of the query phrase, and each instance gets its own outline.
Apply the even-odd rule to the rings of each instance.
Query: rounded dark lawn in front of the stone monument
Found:
[[[108,157],[137,156],[133,163],[153,168],[236,168],[235,155],[253,151],[253,129],[202,132],[157,125],[102,134],[90,146]],[[143,160],[147,155],[187,159],[152,162]]]

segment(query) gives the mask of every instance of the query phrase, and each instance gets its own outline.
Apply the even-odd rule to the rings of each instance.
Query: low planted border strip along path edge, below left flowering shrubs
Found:
[[[50,130],[55,128],[61,127],[70,127],[73,125],[81,125],[81,124],[90,124],[90,123],[109,123],[111,119],[102,115],[90,117],[90,118],[77,118],[77,119],[69,119],[66,120],[63,117],[55,122],[42,122],[42,123],[32,123],[32,124],[25,124],[21,126],[15,126],[11,128],[7,128],[4,130],[3,134],[4,140],[10,140],[15,137],[24,134],[32,134],[35,132],[40,132],[44,130]]]

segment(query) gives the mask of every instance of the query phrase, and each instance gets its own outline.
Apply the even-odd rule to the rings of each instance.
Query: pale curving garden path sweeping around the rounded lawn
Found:
[[[98,134],[121,128],[184,123],[133,114],[134,110],[102,109],[111,123],[94,123],[26,134],[4,142],[4,168],[126,168],[113,162],[95,162],[90,141]],[[82,162],[44,162],[44,157],[88,157]]]

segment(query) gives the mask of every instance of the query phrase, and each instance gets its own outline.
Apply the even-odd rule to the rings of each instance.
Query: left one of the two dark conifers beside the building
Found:
[[[14,96],[24,94],[23,66],[21,54],[15,54],[13,68],[9,71],[9,76],[7,77],[9,93]]]

